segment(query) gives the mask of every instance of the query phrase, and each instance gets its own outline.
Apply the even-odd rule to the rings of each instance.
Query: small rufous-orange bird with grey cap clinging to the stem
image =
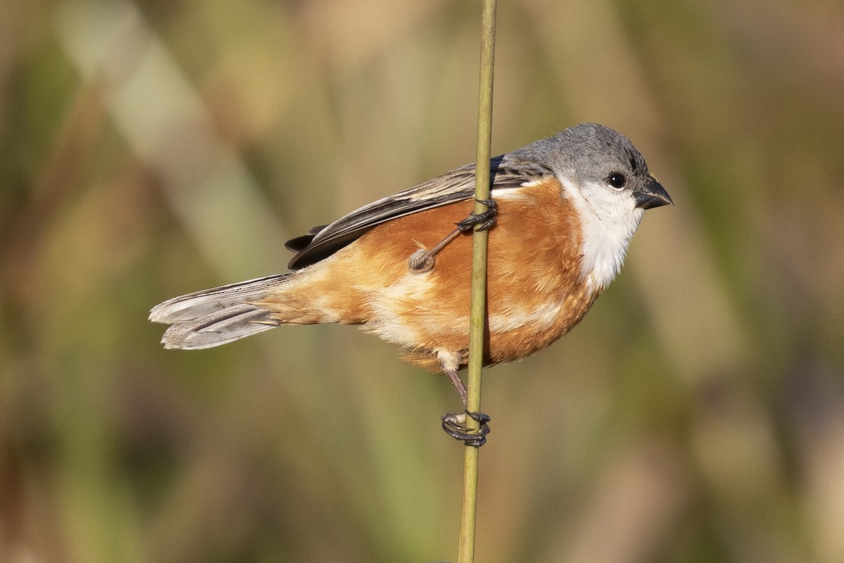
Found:
[[[170,324],[162,343],[177,349],[284,324],[360,325],[445,373],[465,403],[472,230],[490,229],[484,365],[495,365],[568,333],[619,273],[642,212],[672,203],[633,143],[595,123],[490,166],[484,214],[472,213],[475,165],[465,165],[288,241],[288,273],[166,300],[149,320]],[[485,436],[489,417],[468,415]],[[443,420],[452,436],[483,443],[465,419]]]

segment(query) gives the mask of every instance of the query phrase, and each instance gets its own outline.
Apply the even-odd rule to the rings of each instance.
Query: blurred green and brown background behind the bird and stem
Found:
[[[457,553],[446,379],[349,327],[170,351],[151,306],[473,160],[476,2],[4,0],[0,561]],[[493,150],[626,133],[582,324],[484,371],[479,561],[844,560],[844,4],[502,2]]]

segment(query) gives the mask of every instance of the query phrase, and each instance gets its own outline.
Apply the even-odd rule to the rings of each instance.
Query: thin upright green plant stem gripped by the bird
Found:
[[[492,83],[495,62],[495,0],[484,0],[481,31],[480,85],[478,94],[478,152],[475,157],[475,199],[490,198],[490,143],[492,138]],[[486,206],[475,202],[474,213]],[[484,365],[486,320],[486,230],[475,230],[472,247],[472,297],[469,312],[469,359],[466,409],[480,411],[481,368]],[[478,424],[467,417],[467,425]],[[463,459],[463,509],[460,519],[459,563],[474,560],[475,519],[478,505],[479,448],[466,447]]]

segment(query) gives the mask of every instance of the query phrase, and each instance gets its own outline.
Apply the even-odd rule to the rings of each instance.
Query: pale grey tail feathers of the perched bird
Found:
[[[252,303],[284,284],[290,275],[282,273],[174,297],[154,306],[149,320],[170,325],[161,338],[165,348],[211,348],[261,333],[279,322]]]

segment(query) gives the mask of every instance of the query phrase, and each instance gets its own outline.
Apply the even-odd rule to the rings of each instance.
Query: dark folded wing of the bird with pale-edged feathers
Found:
[[[490,188],[520,187],[550,172],[533,162],[509,163],[506,155],[497,156],[490,165]],[[376,225],[425,209],[474,198],[474,164],[446,172],[419,186],[411,187],[387,198],[381,198],[356,209],[331,225],[314,227],[305,235],[287,241],[284,246],[297,252],[288,268],[298,270],[331,256],[356,241]]]

